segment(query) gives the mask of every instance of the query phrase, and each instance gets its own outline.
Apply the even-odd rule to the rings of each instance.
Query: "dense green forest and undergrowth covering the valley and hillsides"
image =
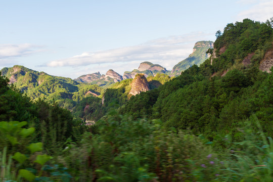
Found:
[[[244,19],[216,32],[200,66],[148,77],[135,96],[132,79],[106,90],[69,80],[35,99],[1,76],[0,180],[272,181],[270,52],[273,18]]]

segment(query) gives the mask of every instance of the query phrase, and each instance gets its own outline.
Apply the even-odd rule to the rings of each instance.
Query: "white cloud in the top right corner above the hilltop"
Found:
[[[241,0],[239,3],[243,4],[245,1]],[[272,0],[251,1],[251,4],[253,5],[250,7],[250,9],[239,13],[239,19],[243,20],[245,18],[249,18],[251,20],[265,22],[267,19],[273,16]]]

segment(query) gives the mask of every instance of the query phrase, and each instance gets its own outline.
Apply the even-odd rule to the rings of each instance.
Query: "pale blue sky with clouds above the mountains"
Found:
[[[272,0],[0,0],[0,69],[72,79],[144,61],[171,70],[228,23],[270,17]]]

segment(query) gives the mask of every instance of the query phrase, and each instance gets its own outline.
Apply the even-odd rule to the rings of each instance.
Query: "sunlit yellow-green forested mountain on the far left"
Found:
[[[55,100],[61,106],[71,109],[86,94],[100,96],[104,89],[98,85],[78,83],[71,78],[52,76],[44,72],[15,65],[12,68],[3,68],[2,75],[10,79],[16,88],[24,92],[30,99],[44,98],[47,101]]]

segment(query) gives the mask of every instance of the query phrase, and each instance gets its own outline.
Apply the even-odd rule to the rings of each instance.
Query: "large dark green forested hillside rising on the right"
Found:
[[[223,33],[216,33],[210,59],[156,90],[132,97],[121,113],[161,119],[168,128],[189,128],[195,134],[207,133],[210,139],[236,132],[254,114],[272,134],[266,126],[273,119],[268,108],[273,79],[259,70],[265,53],[272,50],[269,25],[249,19],[228,24]],[[246,64],[249,54],[252,57]]]

